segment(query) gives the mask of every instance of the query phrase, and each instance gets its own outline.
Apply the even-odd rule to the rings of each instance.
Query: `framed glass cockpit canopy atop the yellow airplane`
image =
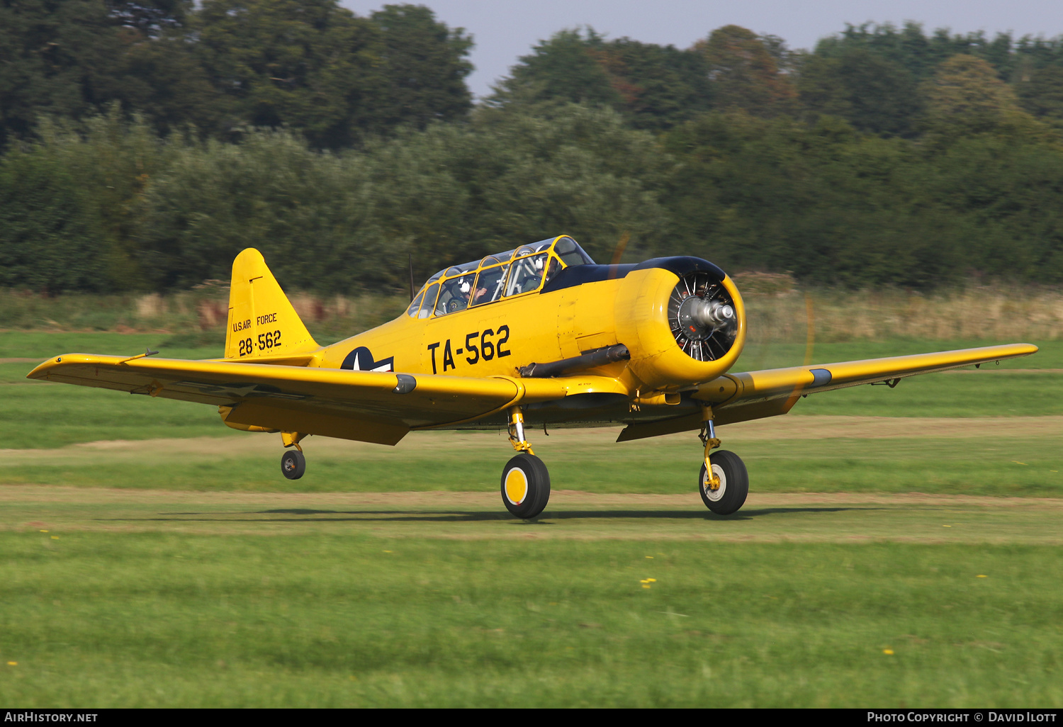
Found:
[[[574,239],[562,235],[480,260],[454,265],[428,278],[406,309],[410,318],[445,316],[503,298],[536,292],[564,268],[593,265]]]

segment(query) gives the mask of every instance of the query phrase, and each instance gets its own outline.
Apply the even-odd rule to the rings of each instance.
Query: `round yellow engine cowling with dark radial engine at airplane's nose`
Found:
[[[676,391],[725,373],[745,343],[745,306],[733,281],[696,257],[646,260],[621,282],[617,339],[643,391]]]

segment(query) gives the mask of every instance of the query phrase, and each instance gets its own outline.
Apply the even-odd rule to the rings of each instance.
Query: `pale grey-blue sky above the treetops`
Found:
[[[392,0],[395,1],[395,0]],[[590,26],[607,38],[630,37],[689,48],[715,28],[742,26],[778,35],[790,48],[810,49],[823,36],[866,21],[922,22],[930,31],[1011,31],[1016,37],[1063,35],[1061,0],[410,0],[435,11],[451,28],[465,28],[475,48],[468,79],[478,97],[491,92],[509,67],[559,30]],[[384,2],[340,0],[357,15]]]

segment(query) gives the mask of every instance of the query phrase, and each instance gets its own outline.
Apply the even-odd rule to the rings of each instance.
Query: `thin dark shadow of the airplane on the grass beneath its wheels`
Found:
[[[773,514],[817,514],[824,512],[845,512],[848,510],[881,510],[885,508],[872,507],[767,507],[756,510],[744,510],[738,515],[718,515],[712,512],[698,510],[557,510],[544,512],[535,520],[513,521],[501,512],[490,512],[480,510],[450,510],[444,512],[431,510],[310,510],[310,509],[283,509],[283,510],[258,510],[246,514],[290,514],[290,515],[353,515],[348,518],[212,518],[210,512],[167,512],[159,513],[168,517],[161,518],[122,518],[124,521],[174,521],[188,522],[191,520],[185,515],[207,515],[197,518],[199,522],[240,522],[240,523],[340,523],[340,522],[409,522],[409,523],[462,523],[462,522],[489,522],[493,520],[504,520],[520,524],[550,525],[551,520],[719,520],[719,521],[743,521],[756,520]],[[107,519],[113,520],[113,519]]]

